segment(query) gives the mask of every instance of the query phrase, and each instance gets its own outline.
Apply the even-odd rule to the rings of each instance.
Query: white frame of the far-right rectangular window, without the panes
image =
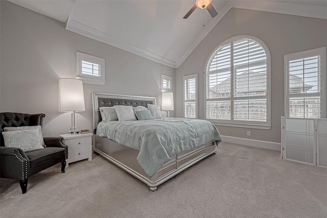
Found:
[[[284,116],[289,117],[290,112],[290,105],[289,105],[289,67],[288,63],[289,61],[296,60],[296,59],[302,59],[302,58],[308,58],[313,56],[320,55],[320,118],[327,118],[327,59],[326,59],[326,47],[319,47],[317,49],[292,53],[284,56]],[[303,81],[304,83],[304,81]],[[297,95],[308,95],[310,96],[310,93],[306,94],[297,94]],[[315,95],[315,94],[312,94]],[[292,117],[295,119],[303,119],[308,117]],[[310,117],[309,117],[310,118]]]

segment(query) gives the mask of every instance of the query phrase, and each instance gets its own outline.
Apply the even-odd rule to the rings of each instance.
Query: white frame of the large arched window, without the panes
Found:
[[[267,99],[267,121],[266,122],[252,122],[252,121],[247,121],[247,120],[235,120],[233,119],[233,102],[236,101],[235,97],[233,96],[234,94],[234,85],[233,85],[233,77],[234,77],[234,66],[233,66],[233,42],[243,39],[243,38],[248,38],[251,40],[254,40],[258,42],[264,49],[266,53],[266,58],[267,58],[267,94],[266,94],[266,99]],[[211,60],[212,55],[219,49],[219,47],[223,45],[227,45],[230,43],[230,98],[224,98],[220,99],[221,101],[226,100],[230,102],[230,119],[225,120],[225,119],[212,119],[212,118],[207,118],[207,102],[210,102],[210,99],[207,99],[207,66],[209,61]],[[221,42],[213,52],[208,56],[208,59],[205,64],[205,84],[204,84],[204,95],[205,95],[205,119],[212,122],[215,125],[220,125],[220,126],[230,126],[230,127],[244,127],[244,128],[252,128],[252,129],[270,129],[271,128],[271,55],[270,55],[270,50],[266,43],[264,43],[261,39],[254,37],[254,36],[249,36],[249,35],[240,35],[240,36],[235,36],[231,37],[223,42]],[[257,96],[258,99],[260,99],[260,96]],[[237,99],[243,100],[243,98],[238,97]],[[244,97],[244,100],[246,100],[247,97]],[[252,98],[251,98],[252,99]],[[208,101],[209,100],[209,101]],[[253,98],[255,100],[255,98]]]

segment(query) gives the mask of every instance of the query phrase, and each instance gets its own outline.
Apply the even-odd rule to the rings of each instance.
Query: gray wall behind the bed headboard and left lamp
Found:
[[[76,77],[76,52],[105,59],[105,85],[84,83],[78,127],[92,130],[92,91],[155,96],[160,75],[175,69],[64,29],[64,23],[1,1],[1,112],[45,113],[44,136],[66,133],[71,114],[58,112],[58,79]],[[174,90],[173,90],[174,91]],[[174,116],[174,112],[171,111]]]

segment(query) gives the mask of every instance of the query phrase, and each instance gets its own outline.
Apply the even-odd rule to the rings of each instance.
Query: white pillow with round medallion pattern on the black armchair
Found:
[[[20,148],[24,152],[44,149],[38,129],[4,131],[5,147]]]

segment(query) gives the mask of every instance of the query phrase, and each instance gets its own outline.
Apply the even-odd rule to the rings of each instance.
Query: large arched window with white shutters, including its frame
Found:
[[[270,126],[270,53],[260,39],[230,38],[208,59],[206,118]]]

